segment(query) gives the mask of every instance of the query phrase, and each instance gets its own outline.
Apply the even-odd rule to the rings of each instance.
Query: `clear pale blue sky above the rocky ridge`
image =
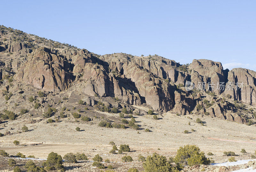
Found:
[[[211,59],[256,71],[256,1],[1,1],[0,24],[96,54]]]

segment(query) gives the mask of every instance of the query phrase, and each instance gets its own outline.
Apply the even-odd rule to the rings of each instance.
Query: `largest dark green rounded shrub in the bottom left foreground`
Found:
[[[62,157],[57,153],[49,153],[47,160],[43,162],[43,166],[47,170],[64,170],[62,165]]]

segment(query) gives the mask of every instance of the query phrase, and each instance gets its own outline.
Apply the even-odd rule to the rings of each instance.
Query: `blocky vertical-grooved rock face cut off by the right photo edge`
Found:
[[[235,68],[228,72],[225,94],[247,104],[256,103],[256,72]]]

